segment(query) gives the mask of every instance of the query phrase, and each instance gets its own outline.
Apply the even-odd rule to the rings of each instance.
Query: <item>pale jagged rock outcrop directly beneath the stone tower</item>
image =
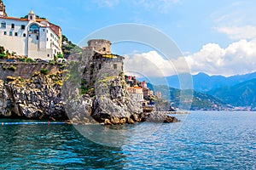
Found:
[[[96,99],[94,99],[92,105],[92,116],[97,122],[105,123],[105,120],[108,119],[111,124],[124,124],[131,119],[132,115],[141,114],[143,109],[142,105],[132,101],[126,93],[124,75],[113,75],[108,74],[106,76],[106,74],[102,74],[98,77],[95,86]]]

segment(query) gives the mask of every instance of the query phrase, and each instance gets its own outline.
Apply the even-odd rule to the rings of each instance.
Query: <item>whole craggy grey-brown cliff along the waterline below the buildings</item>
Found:
[[[37,71],[29,78],[0,79],[0,116],[107,125],[176,122],[166,114],[143,113],[142,105],[127,94],[122,72],[100,71],[95,84],[85,91],[80,83],[73,85],[73,78],[81,81],[77,75],[71,76],[73,71],[67,71],[68,77],[64,72]]]

